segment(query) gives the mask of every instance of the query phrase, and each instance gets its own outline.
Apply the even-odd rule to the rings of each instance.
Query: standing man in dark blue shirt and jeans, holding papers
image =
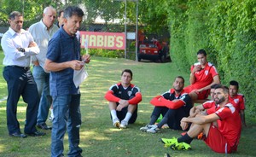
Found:
[[[68,156],[81,156],[79,128],[81,125],[80,91],[73,83],[74,70],[90,62],[90,55],[80,56],[79,30],[84,12],[79,7],[69,6],[64,10],[64,26],[55,32],[49,41],[44,68],[50,72],[49,90],[53,98],[51,133],[51,156],[63,156],[63,138],[68,132]],[[66,123],[67,122],[67,123]]]

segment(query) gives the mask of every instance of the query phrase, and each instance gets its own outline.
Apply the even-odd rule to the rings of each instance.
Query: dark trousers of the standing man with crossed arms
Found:
[[[27,103],[25,133],[37,131],[37,116],[39,96],[37,84],[32,77],[31,71],[23,67],[7,66],[3,69],[3,78],[8,85],[8,99],[6,105],[7,126],[9,135],[20,133],[20,124],[17,120],[17,103],[20,96]]]

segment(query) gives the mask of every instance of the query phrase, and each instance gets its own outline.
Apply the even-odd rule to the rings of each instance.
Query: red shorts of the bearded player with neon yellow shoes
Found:
[[[230,154],[232,149],[226,138],[218,131],[215,125],[211,125],[208,136],[204,139],[209,148],[212,148],[214,152],[221,154]]]

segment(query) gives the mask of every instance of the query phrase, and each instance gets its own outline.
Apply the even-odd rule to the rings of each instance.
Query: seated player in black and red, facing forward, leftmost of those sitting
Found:
[[[126,128],[137,119],[137,104],[142,101],[140,89],[131,84],[132,72],[125,69],[121,74],[121,82],[113,84],[105,95],[109,101],[113,125],[118,128]],[[121,120],[121,123],[120,123]]]

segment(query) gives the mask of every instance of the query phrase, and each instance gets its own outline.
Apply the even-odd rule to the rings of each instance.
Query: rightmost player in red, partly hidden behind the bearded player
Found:
[[[239,84],[237,81],[233,80],[230,81],[230,96],[229,101],[234,105],[238,113],[241,116],[241,124],[246,127],[246,120],[245,120],[245,98],[242,94],[238,93]]]

